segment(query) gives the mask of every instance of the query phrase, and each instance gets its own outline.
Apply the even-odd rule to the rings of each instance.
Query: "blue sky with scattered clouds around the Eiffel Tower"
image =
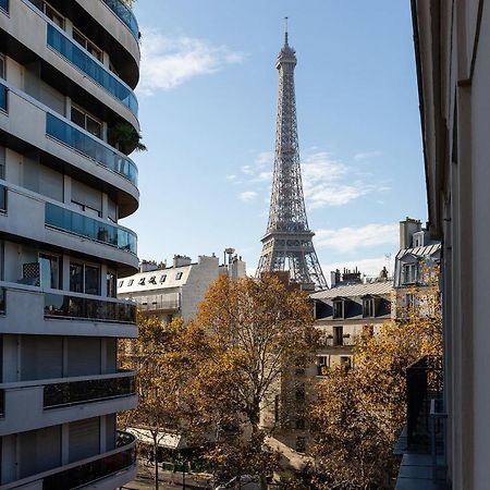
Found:
[[[290,17],[309,225],[323,272],[368,275],[397,222],[427,219],[409,2],[138,0],[145,154],[138,255],[236,248],[253,270],[267,224],[283,17]]]

